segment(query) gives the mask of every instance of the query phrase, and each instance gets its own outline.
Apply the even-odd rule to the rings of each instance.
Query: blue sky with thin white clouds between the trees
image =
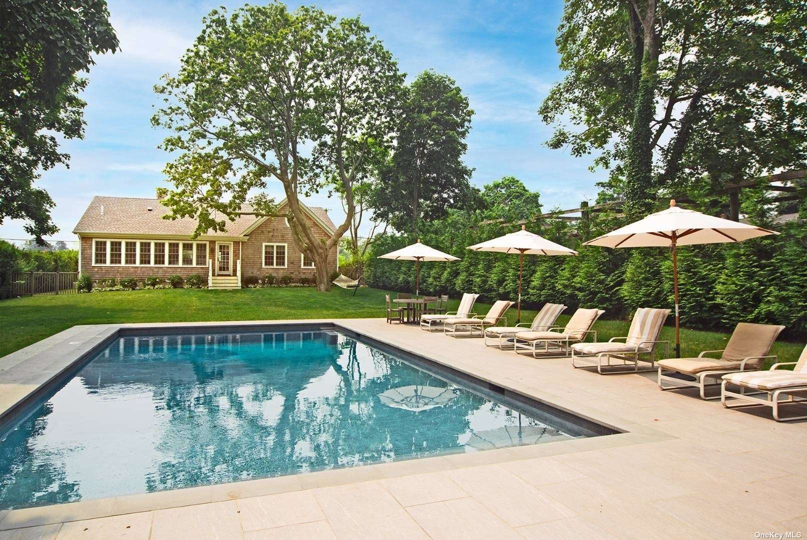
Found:
[[[73,227],[94,195],[153,197],[157,186],[168,186],[161,170],[170,157],[157,148],[166,132],[150,123],[157,104],[153,86],[163,73],[176,73],[204,15],[243,1],[109,0],[121,50],[97,57],[90,69],[83,95],[86,135],[63,144],[71,155],[69,169],[44,171],[36,182],[56,203],[52,216],[61,232],[52,240],[76,240]],[[547,211],[596,198],[595,184],[604,173],[589,171],[589,158],[546,148],[551,128],[537,114],[563,76],[554,45],[562,0],[345,0],[316,5],[332,15],[361,15],[408,81],[425,69],[454,78],[475,111],[465,161],[474,169],[476,186],[515,176],[540,192]],[[278,200],[283,197],[278,181],[270,182],[269,192]],[[324,193],[306,202],[328,208],[337,223],[344,217],[339,201]],[[0,225],[0,238],[27,237],[22,221]]]

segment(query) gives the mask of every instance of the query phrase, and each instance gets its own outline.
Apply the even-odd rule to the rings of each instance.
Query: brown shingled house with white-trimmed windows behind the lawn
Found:
[[[328,212],[300,203],[316,234],[335,229]],[[286,201],[279,205],[285,210]],[[245,209],[245,211],[249,211]],[[160,199],[94,197],[73,232],[79,237],[78,271],[100,278],[166,278],[207,275],[211,288],[240,288],[242,278],[313,278],[313,262],[295,244],[286,218],[239,216],[224,232],[191,238],[196,221],[164,220]],[[337,269],[337,247],[328,267]]]

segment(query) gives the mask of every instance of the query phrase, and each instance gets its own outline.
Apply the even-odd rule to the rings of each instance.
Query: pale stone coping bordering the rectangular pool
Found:
[[[364,322],[364,324],[362,324]],[[266,479],[252,479],[232,483],[220,483],[196,488],[182,488],[163,492],[141,493],[128,496],[115,496],[101,499],[80,500],[73,503],[51,504],[27,509],[0,511],[0,530],[10,530],[36,525],[49,525],[64,521],[78,521],[98,517],[108,517],[127,513],[146,512],[204,504],[223,500],[234,500],[251,496],[274,495],[295,492],[310,488],[355,483],[365,480],[395,478],[426,472],[449,471],[457,468],[475,467],[493,463],[506,463],[520,459],[571,454],[586,450],[599,450],[608,447],[627,446],[646,442],[658,442],[677,438],[668,433],[652,429],[647,425],[616,417],[597,408],[575,403],[563,396],[541,391],[535,387],[519,383],[492,372],[469,369],[466,366],[441,358],[429,350],[419,349],[411,342],[396,341],[394,338],[374,334],[366,328],[362,319],[328,320],[251,320],[215,321],[203,323],[138,323],[138,324],[93,324],[74,326],[23,350],[0,358],[0,421],[5,422],[10,412],[25,408],[27,403],[36,400],[48,385],[59,381],[66,371],[75,368],[115,340],[121,333],[131,330],[159,330],[166,333],[181,332],[183,329],[242,329],[255,331],[261,327],[274,326],[282,329],[314,329],[322,325],[332,325],[353,333],[359,338],[378,341],[399,348],[417,357],[426,358],[450,370],[457,370],[475,379],[491,383],[530,400],[557,408],[575,417],[582,417],[596,424],[604,425],[617,432],[598,437],[571,439],[567,441],[537,443],[525,446],[511,446],[495,450],[480,450],[468,454],[445,454],[430,458],[412,458],[391,463],[376,463],[360,467],[331,469],[296,475],[277,476]]]

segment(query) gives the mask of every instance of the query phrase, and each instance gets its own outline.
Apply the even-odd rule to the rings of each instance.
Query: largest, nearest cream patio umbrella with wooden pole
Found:
[[[667,210],[650,214],[642,220],[617,228],[616,231],[608,232],[608,234],[584,242],[584,244],[602,245],[607,248],[670,247],[672,251],[672,290],[675,295],[675,358],[680,358],[678,257],[675,247],[741,242],[769,234],[779,234],[779,232],[676,207],[675,199],[671,199],[670,207]]]

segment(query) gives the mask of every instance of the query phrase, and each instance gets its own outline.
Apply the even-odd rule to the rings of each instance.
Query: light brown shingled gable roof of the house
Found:
[[[284,199],[280,206],[286,203]],[[328,211],[321,207],[307,207],[301,203],[303,210],[323,226],[328,232],[336,227],[328,217]],[[252,207],[244,205],[242,211],[251,211]],[[73,232],[76,234],[108,233],[108,234],[161,234],[191,236],[196,230],[193,218],[164,220],[162,216],[170,212],[160,199],[138,199],[135,197],[93,197],[90,206],[78,220]],[[226,230],[208,232],[205,237],[242,237],[250,232],[253,225],[263,223],[266,217],[237,216],[234,221],[225,218]]]

